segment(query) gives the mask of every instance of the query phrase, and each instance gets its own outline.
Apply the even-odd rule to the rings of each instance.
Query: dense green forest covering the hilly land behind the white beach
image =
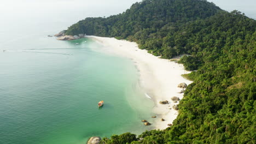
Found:
[[[161,58],[187,54],[179,63],[196,70],[171,127],[102,143],[256,143],[255,20],[203,0],[144,0],[66,32],[79,33],[136,41]]]

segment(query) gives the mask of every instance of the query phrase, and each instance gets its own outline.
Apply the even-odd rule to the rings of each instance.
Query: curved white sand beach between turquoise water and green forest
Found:
[[[174,110],[172,106],[177,105],[179,102],[174,103],[171,98],[174,96],[179,99],[183,98],[183,93],[178,93],[182,88],[178,88],[177,86],[182,82],[187,83],[187,85],[192,82],[181,76],[190,72],[184,70],[182,64],[171,62],[168,59],[161,59],[151,55],[146,50],[138,49],[136,43],[117,40],[115,38],[86,37],[94,39],[108,47],[106,50],[108,52],[132,59],[139,70],[140,86],[155,102],[153,113],[158,116],[152,122],[155,129],[167,128],[167,124],[172,123],[178,115],[178,111]],[[159,104],[159,101],[164,100],[168,100],[169,104]],[[164,118],[165,121],[161,121],[161,118]]]

